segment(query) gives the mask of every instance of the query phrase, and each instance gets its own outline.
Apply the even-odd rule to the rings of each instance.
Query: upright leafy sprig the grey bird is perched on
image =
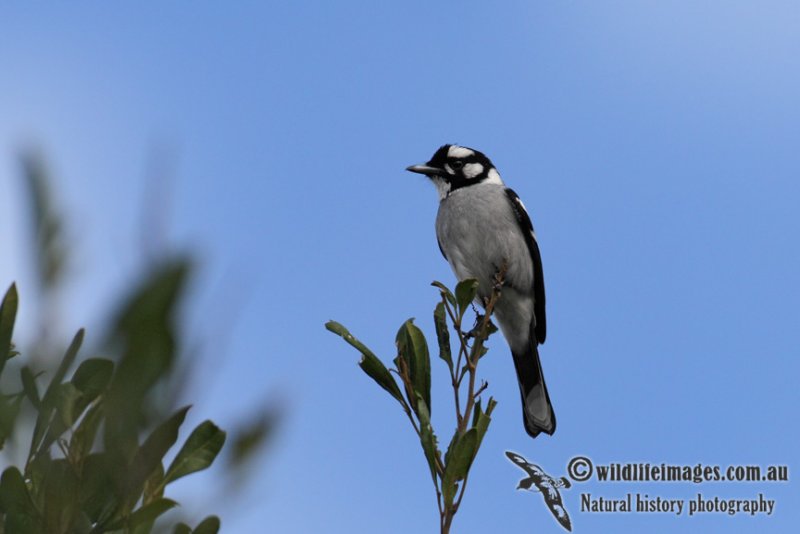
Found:
[[[481,406],[480,396],[488,384],[482,382],[478,385],[476,377],[478,362],[488,351],[485,347],[486,340],[497,331],[491,322],[491,315],[497,299],[500,298],[503,275],[504,269],[501,269],[497,273],[491,297],[484,302],[485,315],[476,314],[475,326],[469,331],[464,331],[462,324],[477,294],[477,280],[459,282],[455,294],[441,282],[432,284],[439,288],[441,297],[433,313],[439,358],[445,362],[450,373],[455,404],[455,431],[444,455],[431,422],[431,362],[428,343],[413,319],[403,323],[397,332],[397,357],[393,360],[392,368],[387,368],[380,358],[341,324],[336,321],[325,324],[328,330],[341,336],[361,353],[361,369],[400,404],[414,427],[436,489],[439,528],[442,534],[450,532],[453,518],[464,497],[469,470],[497,404],[489,397],[485,409]],[[458,340],[455,358],[451,350],[448,323],[452,325]],[[392,375],[398,377],[399,384]]]

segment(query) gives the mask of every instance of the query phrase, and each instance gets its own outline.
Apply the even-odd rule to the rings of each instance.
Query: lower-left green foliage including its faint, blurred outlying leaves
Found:
[[[25,155],[22,177],[41,324],[32,343],[37,357],[20,355],[12,342],[18,308],[12,284],[0,307],[0,534],[217,532],[220,520],[213,515],[194,528],[186,522],[167,528],[166,518],[156,524],[178,505],[165,496],[167,486],[209,467],[226,441],[208,420],[178,439],[190,409],[176,401],[186,373],[175,375],[187,369],[179,365],[186,344],[179,312],[192,263],[185,257],[150,262],[140,283],[107,314],[103,343],[89,349],[98,356],[81,356],[81,329],[60,361],[39,357],[52,352],[44,338],[58,320],[51,297],[64,283],[69,248],[42,159]],[[244,418],[229,440],[227,465],[236,469],[222,476],[240,482],[278,418],[277,410],[263,407]]]

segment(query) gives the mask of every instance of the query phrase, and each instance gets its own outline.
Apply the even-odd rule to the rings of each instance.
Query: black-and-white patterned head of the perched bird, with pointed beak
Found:
[[[503,185],[500,174],[482,152],[458,145],[443,145],[422,165],[406,170],[424,174],[433,181],[444,199],[452,191],[480,183]]]

